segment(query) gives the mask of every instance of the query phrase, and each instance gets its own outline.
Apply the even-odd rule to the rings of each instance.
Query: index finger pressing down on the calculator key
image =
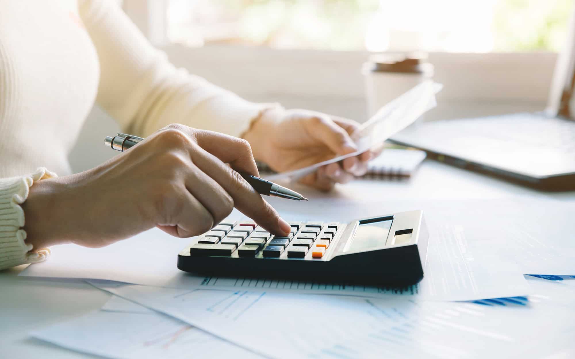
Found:
[[[199,146],[193,147],[195,148],[190,149],[190,156],[194,164],[228,192],[233,199],[234,207],[270,233],[285,236],[290,232],[292,227],[279,217],[277,211],[238,172],[225,165],[224,161],[205,149]],[[236,156],[245,157],[247,155],[246,153],[237,153]]]

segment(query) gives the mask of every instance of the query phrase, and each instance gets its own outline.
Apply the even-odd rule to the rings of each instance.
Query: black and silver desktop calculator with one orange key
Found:
[[[273,236],[252,221],[224,220],[178,254],[182,271],[209,276],[405,286],[423,278],[423,211],[349,223],[289,222]]]

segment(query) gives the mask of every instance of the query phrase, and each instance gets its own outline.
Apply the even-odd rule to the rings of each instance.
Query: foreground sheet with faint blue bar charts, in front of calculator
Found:
[[[554,290],[570,290],[561,292],[570,302],[552,294],[487,306],[91,283],[271,358],[540,358],[575,349],[575,291],[565,286]]]

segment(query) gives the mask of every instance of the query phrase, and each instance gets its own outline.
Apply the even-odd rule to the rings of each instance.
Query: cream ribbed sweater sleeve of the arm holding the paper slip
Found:
[[[177,69],[110,0],[84,0],[79,14],[93,41],[101,78],[97,103],[138,136],[183,123],[239,137],[261,111],[199,76]]]

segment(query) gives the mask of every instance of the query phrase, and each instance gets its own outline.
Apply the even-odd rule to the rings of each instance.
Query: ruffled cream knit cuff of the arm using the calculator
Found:
[[[32,245],[25,242],[24,211],[20,204],[28,198],[34,182],[55,176],[41,167],[27,176],[0,179],[0,270],[41,262],[49,256],[49,248],[30,252]]]

